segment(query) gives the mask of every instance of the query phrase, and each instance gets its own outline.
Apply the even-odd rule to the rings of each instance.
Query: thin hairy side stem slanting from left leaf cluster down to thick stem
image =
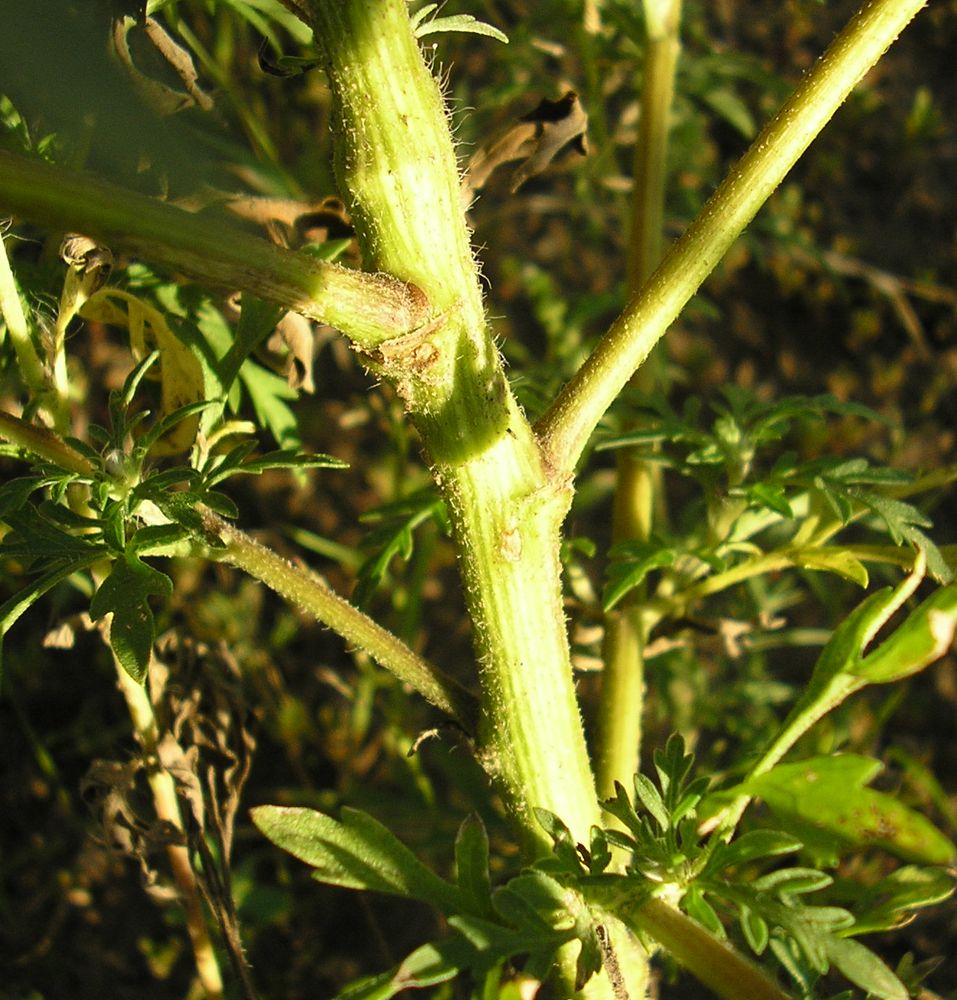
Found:
[[[466,732],[474,733],[477,707],[464,688],[354,608],[316,575],[294,566],[212,511],[204,508],[201,514],[204,528],[225,546],[212,549],[211,556],[245,570],[290,604],[328,625],[458,722]]]

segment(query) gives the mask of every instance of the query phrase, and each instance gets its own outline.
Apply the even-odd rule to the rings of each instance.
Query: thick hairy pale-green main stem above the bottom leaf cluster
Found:
[[[446,110],[403,0],[313,0],[335,101],[336,166],[366,267],[409,282],[430,319],[367,360],[418,428],[455,529],[481,671],[478,749],[527,856],[532,809],[587,842],[599,819],[558,562],[568,477],[542,459],[504,376],[469,245]]]

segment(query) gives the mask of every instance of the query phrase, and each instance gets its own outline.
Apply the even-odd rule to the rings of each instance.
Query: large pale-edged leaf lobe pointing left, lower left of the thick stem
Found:
[[[368,813],[344,808],[340,821],[313,809],[259,806],[252,818],[274,844],[314,868],[319,882],[419,899],[443,913],[467,908],[458,888]]]

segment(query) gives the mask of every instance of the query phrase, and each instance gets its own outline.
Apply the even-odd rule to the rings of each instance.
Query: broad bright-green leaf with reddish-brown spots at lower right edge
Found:
[[[899,857],[949,864],[954,845],[932,823],[891,795],[864,786],[879,761],[856,754],[779,764],[741,787],[783,821],[844,844],[882,847]]]

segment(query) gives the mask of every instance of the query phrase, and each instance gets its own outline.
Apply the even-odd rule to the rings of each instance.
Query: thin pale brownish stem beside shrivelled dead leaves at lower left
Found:
[[[103,637],[109,645],[108,629],[103,630]],[[184,833],[183,816],[180,812],[179,799],[176,795],[176,782],[172,774],[159,761],[159,730],[156,726],[156,716],[146,689],[137,684],[132,677],[115,661],[117,683],[126,699],[130,718],[133,722],[133,732],[143,748],[146,759],[146,780],[153,797],[153,808],[156,818],[162,823],[168,823],[174,830]],[[223,1000],[223,979],[219,969],[219,960],[209,935],[206,913],[196,883],[196,874],[190,863],[189,850],[183,844],[168,844],[166,856],[173,872],[173,880],[179,894],[179,903],[183,908],[186,920],[186,930],[189,934],[196,962],[196,973],[202,984],[206,1000]]]

